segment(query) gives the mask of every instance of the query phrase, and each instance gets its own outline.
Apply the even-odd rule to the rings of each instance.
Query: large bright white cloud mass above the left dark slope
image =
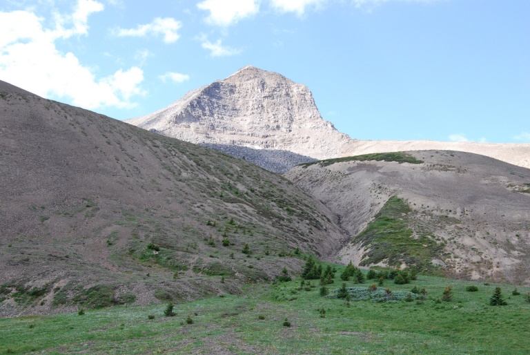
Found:
[[[88,33],[88,17],[104,10],[97,1],[79,0],[71,15],[55,15],[52,28],[30,11],[0,12],[0,77],[44,97],[69,97],[84,108],[134,106],[142,95],[140,68],[119,69],[96,79],[72,52],[61,52],[55,42]]]

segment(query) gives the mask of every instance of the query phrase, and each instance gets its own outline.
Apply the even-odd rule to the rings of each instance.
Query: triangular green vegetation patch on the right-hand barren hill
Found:
[[[422,273],[439,274],[431,260],[440,258],[443,246],[428,236],[412,237],[413,231],[407,222],[411,211],[401,198],[389,198],[375,215],[375,220],[352,241],[369,249],[360,265],[377,264],[386,260],[389,265],[397,267],[405,262]]]

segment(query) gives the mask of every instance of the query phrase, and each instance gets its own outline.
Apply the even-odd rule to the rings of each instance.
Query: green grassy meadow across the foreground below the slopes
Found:
[[[340,274],[342,267],[337,266]],[[349,287],[367,287],[373,281]],[[340,287],[337,277],[329,285]],[[451,302],[436,303],[446,285]],[[467,292],[468,285],[479,285]],[[72,314],[0,319],[0,353],[201,354],[224,349],[234,354],[528,354],[530,303],[509,296],[508,305],[491,307],[496,285],[419,276],[409,285],[386,280],[380,288],[410,291],[425,287],[418,304],[374,303],[319,296],[319,288],[300,289],[300,279],[275,285],[248,285],[242,296],[226,295],[176,304],[119,306]],[[282,297],[284,296],[284,297]],[[325,317],[322,318],[322,309]],[[154,315],[154,319],[149,316]],[[186,323],[190,316],[193,324]],[[151,317],[152,318],[152,317]],[[284,327],[288,320],[291,327]],[[507,346],[509,344],[509,346]]]

